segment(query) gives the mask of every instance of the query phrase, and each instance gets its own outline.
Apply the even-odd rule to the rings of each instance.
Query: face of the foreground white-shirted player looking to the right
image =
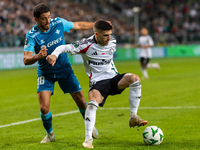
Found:
[[[96,33],[97,42],[102,46],[108,45],[111,34],[112,34],[112,30],[97,32]]]

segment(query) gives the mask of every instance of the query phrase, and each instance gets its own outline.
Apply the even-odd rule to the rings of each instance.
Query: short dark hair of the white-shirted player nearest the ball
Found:
[[[105,20],[98,20],[94,24],[94,31],[97,30],[112,30],[113,26]]]

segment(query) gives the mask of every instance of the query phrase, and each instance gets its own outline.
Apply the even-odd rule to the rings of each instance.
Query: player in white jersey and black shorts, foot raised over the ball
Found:
[[[86,137],[83,146],[93,148],[92,129],[95,125],[96,110],[103,107],[108,95],[120,94],[130,87],[129,126],[142,126],[148,122],[137,115],[141,97],[140,78],[132,73],[119,74],[113,63],[116,40],[111,36],[112,25],[99,20],[94,25],[94,35],[73,44],[57,47],[46,59],[54,66],[61,53],[81,54],[85,71],[89,77],[89,104],[85,114]]]

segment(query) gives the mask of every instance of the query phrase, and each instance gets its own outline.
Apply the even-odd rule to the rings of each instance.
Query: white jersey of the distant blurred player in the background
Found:
[[[154,42],[150,35],[146,35],[139,37],[138,44],[140,46],[153,46]],[[151,58],[152,57],[151,47],[146,49],[141,48],[140,57]]]

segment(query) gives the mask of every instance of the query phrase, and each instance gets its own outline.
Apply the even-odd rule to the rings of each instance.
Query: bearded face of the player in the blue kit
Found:
[[[50,28],[50,12],[42,13],[39,18],[36,18],[37,26],[42,32],[46,32]]]

